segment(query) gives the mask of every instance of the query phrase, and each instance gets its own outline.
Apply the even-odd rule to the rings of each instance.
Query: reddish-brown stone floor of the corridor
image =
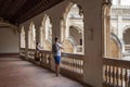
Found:
[[[0,87],[83,87],[18,58],[0,58]]]

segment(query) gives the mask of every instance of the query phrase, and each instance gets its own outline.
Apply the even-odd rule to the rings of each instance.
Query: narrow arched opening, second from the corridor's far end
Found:
[[[28,48],[36,49],[36,28],[32,22],[30,23],[28,32]]]

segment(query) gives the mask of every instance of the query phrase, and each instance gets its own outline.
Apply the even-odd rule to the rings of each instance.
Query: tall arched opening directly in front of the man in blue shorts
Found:
[[[83,54],[83,12],[81,7],[69,3],[61,24],[64,52]]]

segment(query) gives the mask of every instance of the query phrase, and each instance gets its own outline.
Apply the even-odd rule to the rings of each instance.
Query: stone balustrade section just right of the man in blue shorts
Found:
[[[82,80],[83,55],[62,53],[61,73],[77,80]]]

